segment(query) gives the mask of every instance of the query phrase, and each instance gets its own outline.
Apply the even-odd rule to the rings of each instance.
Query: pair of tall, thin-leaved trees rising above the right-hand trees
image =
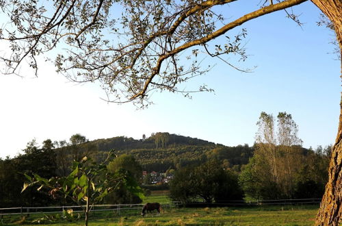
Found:
[[[291,114],[279,112],[277,116],[277,126],[274,126],[274,117],[272,114],[261,112],[257,125],[254,164],[254,171],[259,168],[263,174],[267,174],[267,167],[272,175],[269,183],[275,184],[280,192],[278,197],[293,198],[295,191],[295,177],[302,165],[302,140],[298,138],[298,126],[293,121]],[[259,180],[265,180],[262,175],[259,177],[254,173]],[[267,194],[267,193],[266,193]],[[272,194],[272,198],[276,197]],[[265,197],[264,197],[265,198]]]

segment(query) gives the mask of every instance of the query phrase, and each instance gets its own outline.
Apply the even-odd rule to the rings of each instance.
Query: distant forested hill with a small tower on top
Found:
[[[100,160],[103,154],[114,150],[117,155],[131,154],[140,162],[144,171],[165,172],[169,168],[181,168],[189,164],[201,164],[215,158],[222,160],[226,167],[235,167],[237,171],[243,164],[248,164],[253,149],[248,145],[226,147],[207,140],[190,138],[169,133],[155,133],[150,137],[135,140],[124,136],[74,142],[56,149],[57,156],[69,155],[68,159],[79,159],[90,155]],[[70,156],[73,155],[73,156]],[[65,158],[63,158],[65,159]],[[61,162],[62,164],[62,162]]]

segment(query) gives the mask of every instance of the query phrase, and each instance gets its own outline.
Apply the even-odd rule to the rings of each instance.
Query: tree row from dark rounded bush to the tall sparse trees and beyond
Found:
[[[248,146],[212,149],[211,155],[207,155],[211,158],[204,164],[176,171],[170,183],[172,199],[218,203],[242,197],[321,198],[328,180],[331,146],[302,148],[298,126],[286,112],[280,112],[276,118],[261,112],[257,125],[253,155],[249,155]],[[244,157],[249,158],[248,163]]]

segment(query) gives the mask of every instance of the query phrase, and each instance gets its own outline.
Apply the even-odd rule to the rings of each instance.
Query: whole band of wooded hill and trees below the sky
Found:
[[[81,134],[68,141],[44,140],[41,145],[31,140],[14,158],[0,158],[0,208],[73,203],[68,197],[56,199],[40,186],[21,192],[23,184],[34,175],[68,178],[75,162],[79,164],[85,156],[93,164],[103,162],[109,151],[114,155],[107,171],[129,172],[144,194],[167,189],[172,200],[183,203],[321,198],[331,147],[302,147],[298,125],[286,112],[276,117],[261,112],[257,125],[252,147],[227,147],[167,132],[142,134],[140,140],[118,136],[90,141]],[[98,203],[142,202],[131,190],[118,183]]]

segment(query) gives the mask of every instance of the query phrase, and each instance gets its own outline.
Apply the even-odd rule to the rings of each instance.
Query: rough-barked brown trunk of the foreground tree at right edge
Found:
[[[334,24],[340,53],[342,56],[342,1],[341,0],[311,0]],[[342,61],[341,61],[342,70]],[[342,74],[342,71],[341,71]],[[342,77],[342,75],[341,75]],[[339,225],[342,218],[342,97],[341,113],[337,138],[332,148],[329,166],[329,179],[326,192],[321,201],[321,207],[316,216],[315,225]]]

